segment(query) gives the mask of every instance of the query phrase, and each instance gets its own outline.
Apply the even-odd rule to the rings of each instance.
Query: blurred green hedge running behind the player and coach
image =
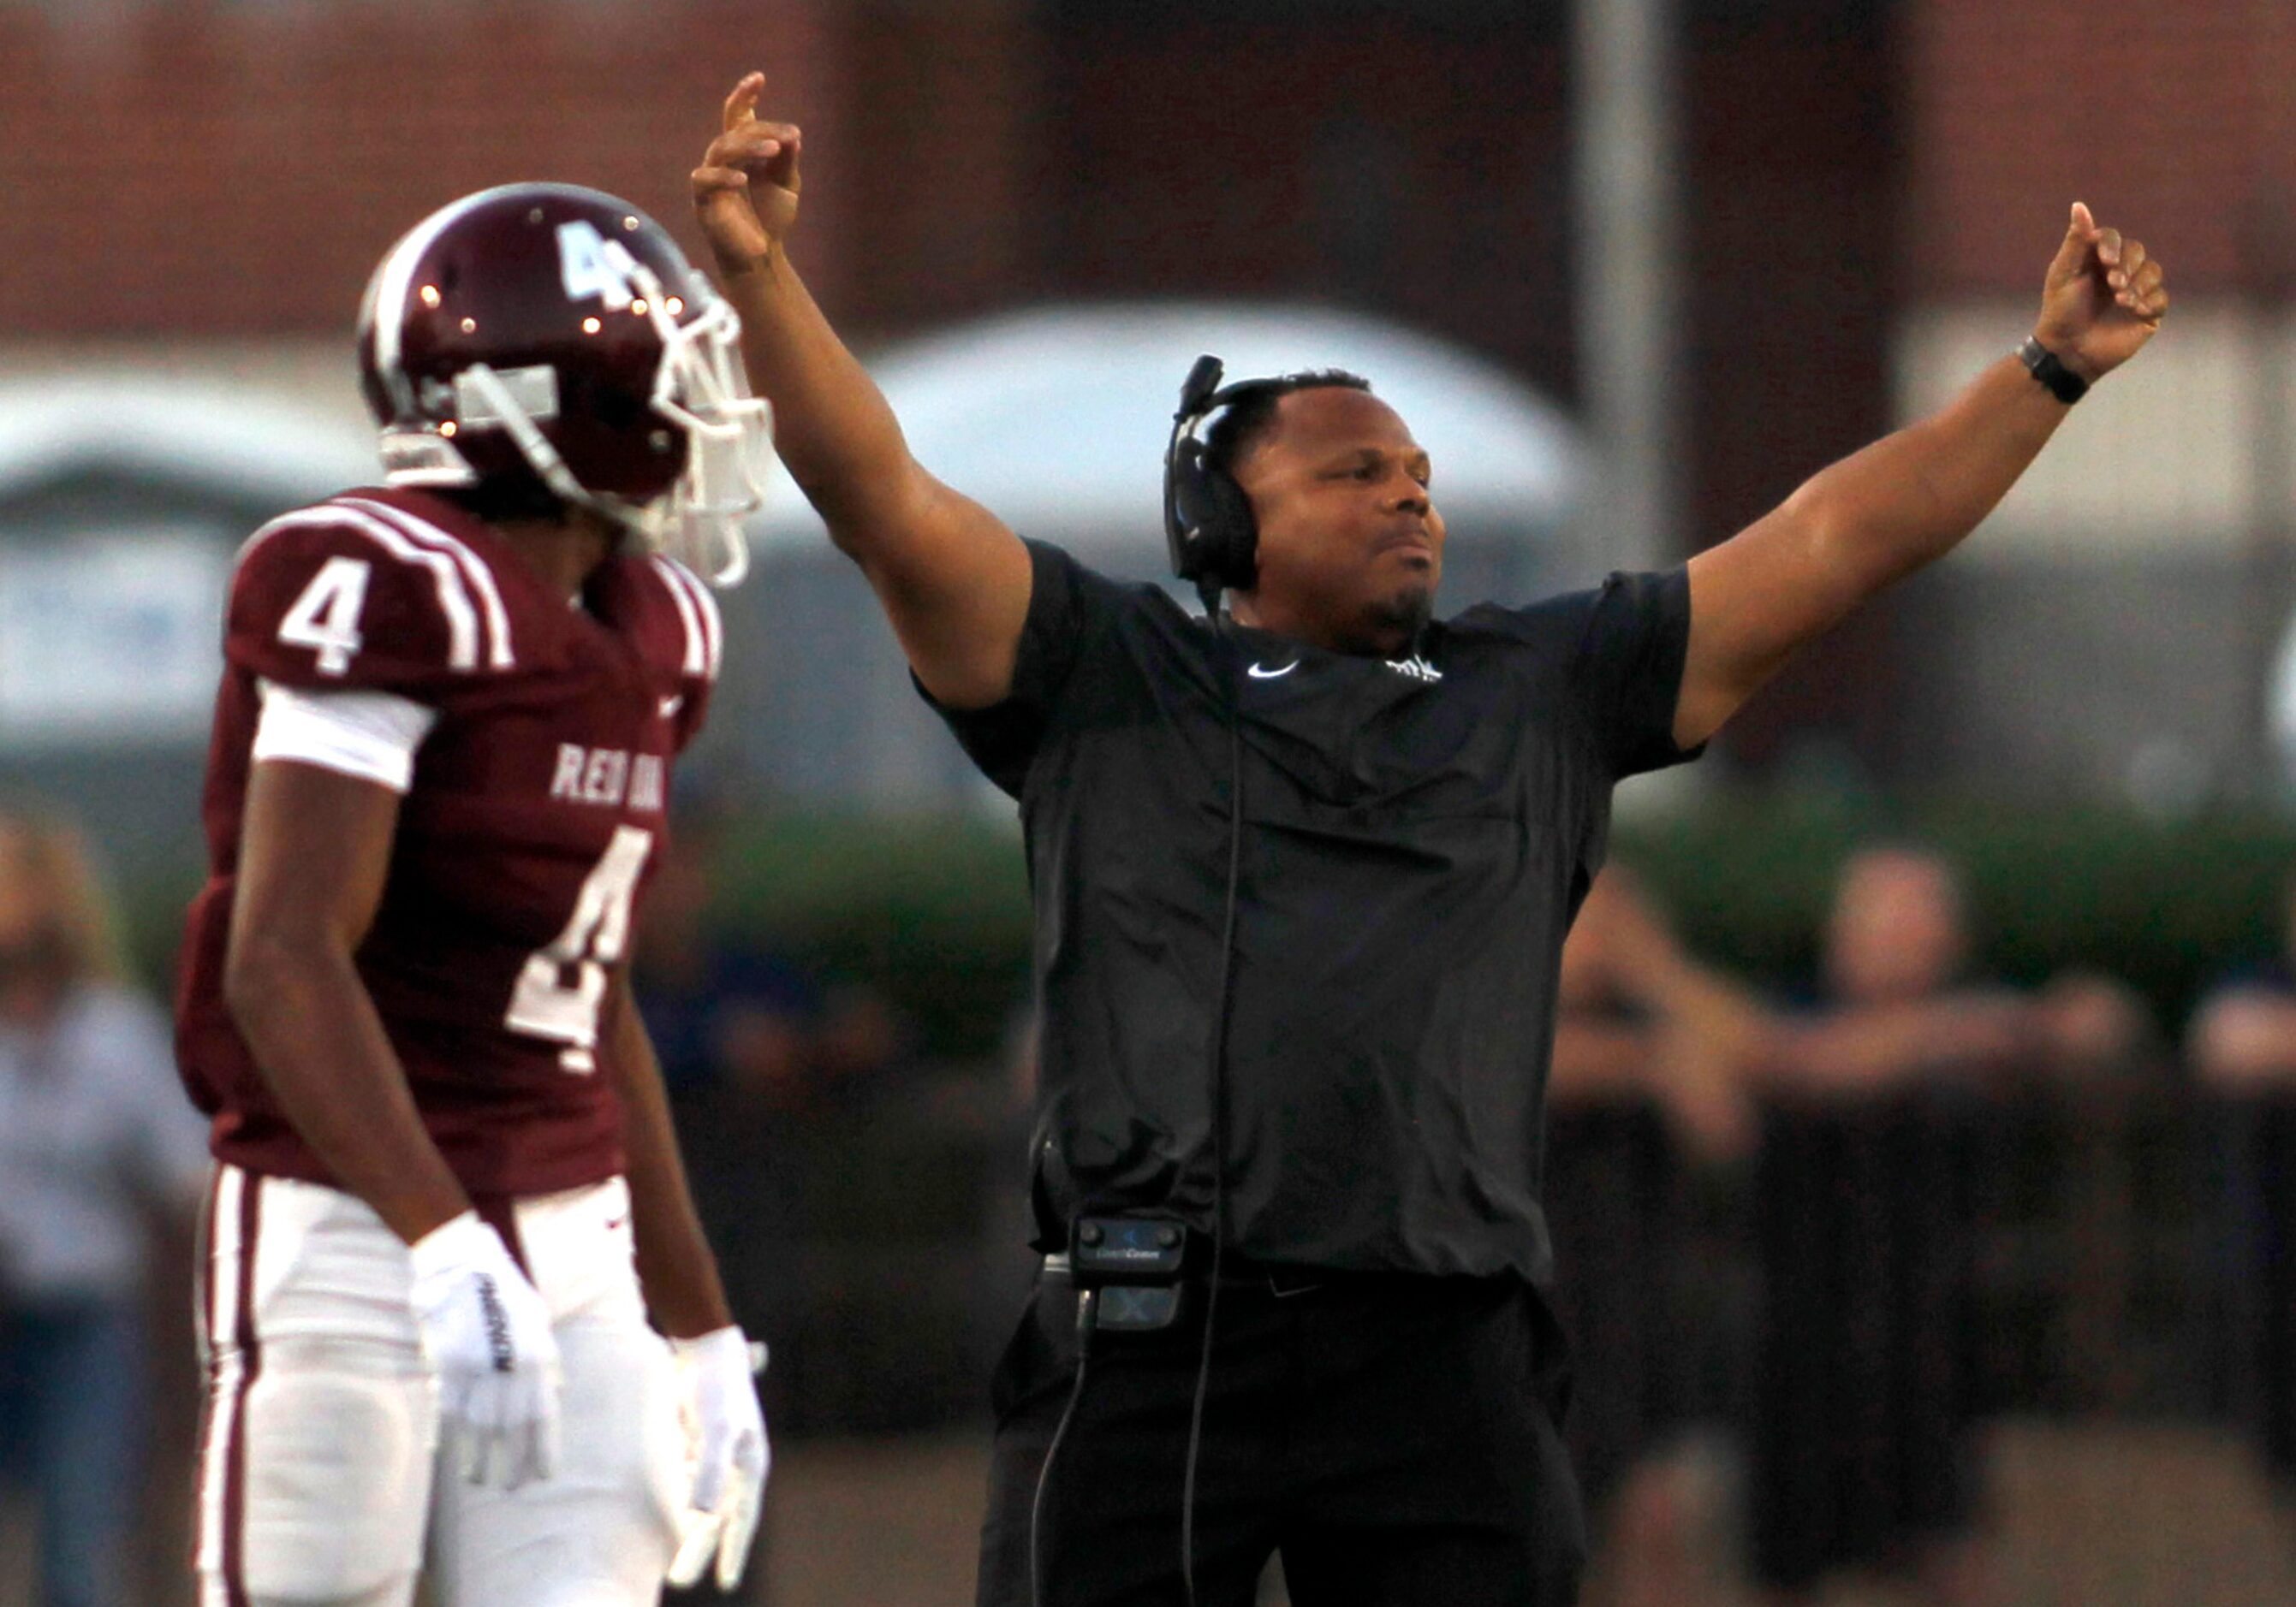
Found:
[[[2037,980],[2087,964],[2131,980],[2174,1026],[2236,960],[2273,953],[2296,824],[2163,826],[2108,808],[1720,797],[1626,822],[1635,863],[1690,944],[1763,985],[1805,978],[1832,877],[1857,843],[1936,843],[1968,868],[1979,964]],[[172,955],[191,877],[129,888],[138,955]],[[719,921],[822,971],[879,983],[944,1056],[996,1049],[1029,985],[1019,838],[980,817],[751,815],[726,833]]]

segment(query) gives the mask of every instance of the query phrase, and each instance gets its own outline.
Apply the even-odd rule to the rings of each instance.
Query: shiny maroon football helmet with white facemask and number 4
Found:
[[[358,379],[390,484],[540,480],[730,585],[771,413],[742,321],[659,223],[574,184],[441,207],[383,257]]]

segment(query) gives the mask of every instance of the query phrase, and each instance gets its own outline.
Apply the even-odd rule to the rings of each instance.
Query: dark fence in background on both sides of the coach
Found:
[[[980,1423],[1019,1311],[1022,1129],[962,1077],[687,1143],[776,1433]],[[1800,1584],[1981,1501],[1988,1416],[2218,1421],[2296,1474],[2296,1090],[2170,1074],[1773,1102],[1752,1159],[1658,1109],[1554,1111],[1557,1304],[1596,1506],[1692,1428],[1736,1435],[1747,1552]]]

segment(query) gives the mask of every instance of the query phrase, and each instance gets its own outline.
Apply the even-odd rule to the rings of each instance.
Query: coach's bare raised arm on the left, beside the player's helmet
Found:
[[[726,131],[693,170],[693,209],[742,312],[748,379],[774,402],[776,448],[861,565],[925,689],[951,707],[1006,696],[1029,615],[1029,551],[909,457],[900,422],[790,266],[794,124],[762,122],[765,73],[726,96]]]

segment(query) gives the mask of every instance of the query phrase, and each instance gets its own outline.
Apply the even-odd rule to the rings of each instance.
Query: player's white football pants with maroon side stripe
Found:
[[[652,1607],[684,1506],[670,1350],[620,1178],[514,1205],[565,1359],[558,1469],[471,1485],[439,1446],[406,1247],[365,1201],[220,1166],[202,1283],[200,1607]]]

